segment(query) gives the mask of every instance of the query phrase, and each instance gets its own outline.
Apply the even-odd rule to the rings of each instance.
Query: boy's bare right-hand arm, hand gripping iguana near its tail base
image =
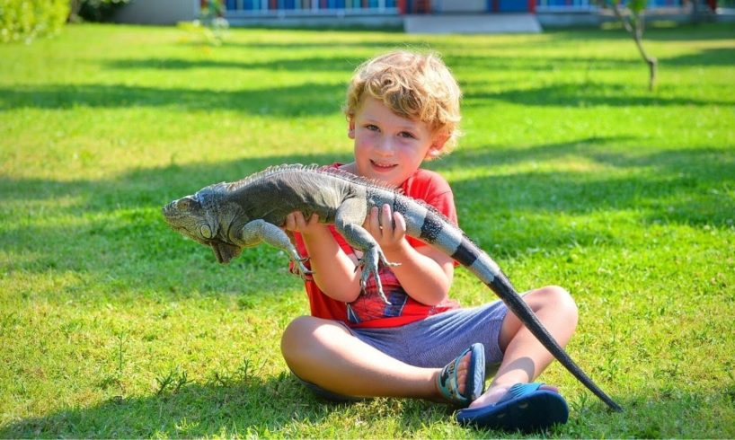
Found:
[[[378,220],[378,217],[380,218]],[[400,266],[391,268],[403,290],[413,299],[436,305],[447,299],[454,277],[454,261],[432,246],[413,248],[406,240],[403,216],[385,205],[373,207],[363,226],[371,233],[385,257]]]

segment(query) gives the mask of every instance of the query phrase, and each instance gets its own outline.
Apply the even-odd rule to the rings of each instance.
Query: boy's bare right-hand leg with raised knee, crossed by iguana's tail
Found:
[[[577,327],[577,305],[562,287],[546,286],[523,296],[554,339],[564,347]],[[495,403],[515,383],[532,382],[551,364],[553,356],[527,330],[515,314],[508,312],[500,329],[503,360],[487,391],[470,405],[476,408]],[[545,388],[555,390],[545,385]]]

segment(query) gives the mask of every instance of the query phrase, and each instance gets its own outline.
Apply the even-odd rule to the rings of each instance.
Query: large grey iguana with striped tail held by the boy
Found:
[[[334,224],[350,246],[363,252],[359,261],[361,285],[375,277],[378,291],[387,303],[377,269],[378,263],[393,263],[385,259],[373,236],[361,226],[371,207],[385,204],[403,215],[408,235],[445,252],[469,269],[571,374],[611,409],[622,410],[571,360],[487,253],[437,210],[385,184],[317,165],[280,165],[243,180],[209,185],[192,196],[173,200],[163,213],[173,229],[211,246],[220,263],[229,262],[244,247],[267,242],[288,252],[302,274],[309,273],[304,265],[306,259],[301,258],[281,226],[292,212],[301,211],[305,218],[315,213],[321,222]]]

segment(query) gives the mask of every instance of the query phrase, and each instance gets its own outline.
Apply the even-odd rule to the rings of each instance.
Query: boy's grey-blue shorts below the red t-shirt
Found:
[[[501,301],[468,309],[438,313],[387,329],[348,329],[361,341],[406,364],[440,368],[475,342],[485,347],[485,374],[493,374],[502,361],[500,328],[508,308]],[[316,394],[329,400],[352,400],[297,377]]]

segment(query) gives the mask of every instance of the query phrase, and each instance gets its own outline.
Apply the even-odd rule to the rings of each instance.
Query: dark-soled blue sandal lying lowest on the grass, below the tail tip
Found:
[[[558,392],[540,390],[544,383],[516,383],[494,405],[461,409],[462,425],[487,429],[532,432],[563,424],[569,418],[567,402]]]

